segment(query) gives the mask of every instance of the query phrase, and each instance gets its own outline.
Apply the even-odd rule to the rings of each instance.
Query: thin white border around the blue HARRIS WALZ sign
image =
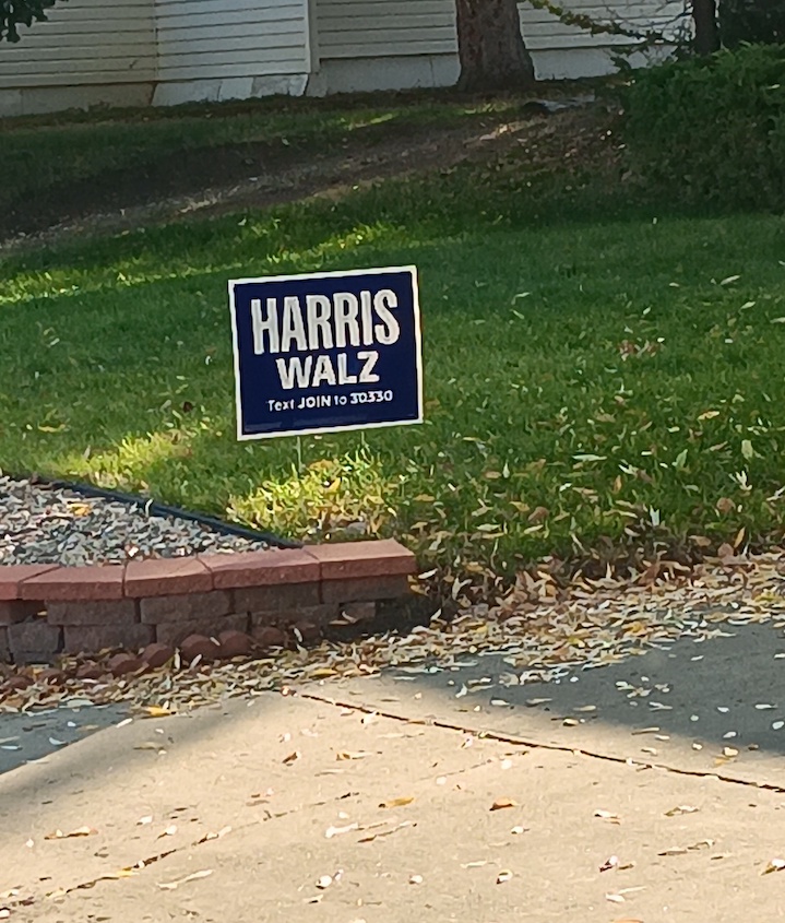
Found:
[[[417,352],[417,418],[396,419],[385,423],[358,423],[344,426],[320,426],[312,429],[284,429],[275,433],[243,433],[242,431],[242,401],[240,398],[240,350],[237,335],[237,306],[235,304],[235,285],[247,285],[252,282],[293,282],[301,279],[337,279],[347,275],[381,275],[386,272],[407,272],[412,276],[412,293],[414,295],[414,336],[415,350]],[[347,433],[355,429],[382,429],[389,426],[413,426],[423,423],[424,394],[423,394],[423,332],[420,328],[419,309],[419,284],[417,280],[417,267],[373,267],[372,269],[348,269],[332,270],[330,272],[300,272],[288,275],[262,275],[249,279],[230,279],[229,291],[229,317],[231,319],[231,352],[234,354],[235,371],[235,418],[237,426],[237,441],[251,442],[258,439],[276,439],[281,436],[319,436],[328,433]]]

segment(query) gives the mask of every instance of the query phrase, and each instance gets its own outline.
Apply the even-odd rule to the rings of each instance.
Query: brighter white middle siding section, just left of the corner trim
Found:
[[[301,94],[308,0],[157,0],[156,104]]]

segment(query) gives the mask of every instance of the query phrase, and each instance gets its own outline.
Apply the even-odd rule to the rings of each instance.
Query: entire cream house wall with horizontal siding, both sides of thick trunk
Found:
[[[562,2],[667,28],[686,0]],[[627,44],[528,3],[520,13],[540,79],[609,73]],[[454,0],[69,0],[22,32],[0,51],[0,116],[449,86],[460,71]]]

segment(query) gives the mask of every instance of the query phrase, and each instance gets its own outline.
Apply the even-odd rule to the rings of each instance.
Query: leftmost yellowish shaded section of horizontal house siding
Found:
[[[0,47],[0,115],[150,102],[154,0],[70,0]]]

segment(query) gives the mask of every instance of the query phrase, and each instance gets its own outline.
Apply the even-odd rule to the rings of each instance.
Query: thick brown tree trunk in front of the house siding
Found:
[[[513,90],[534,83],[516,0],[455,0],[460,90]]]

